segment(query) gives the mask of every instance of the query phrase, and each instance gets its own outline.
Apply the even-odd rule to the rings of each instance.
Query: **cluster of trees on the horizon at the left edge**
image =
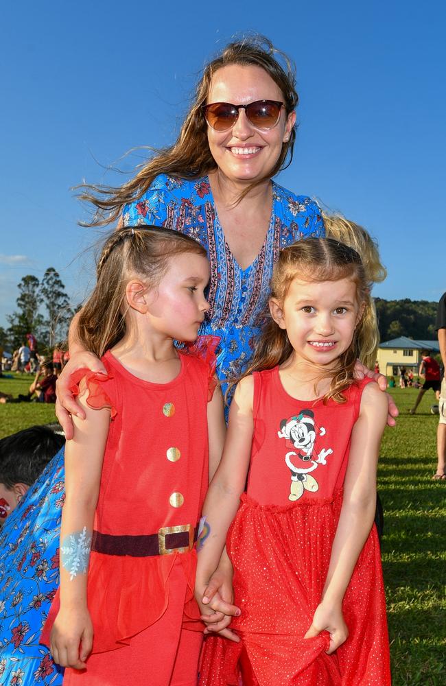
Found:
[[[27,274],[17,287],[16,310],[6,316],[9,326],[0,327],[0,344],[15,350],[23,345],[26,334],[32,333],[39,353],[51,350],[67,338],[74,314],[60,274],[49,267],[41,281]]]

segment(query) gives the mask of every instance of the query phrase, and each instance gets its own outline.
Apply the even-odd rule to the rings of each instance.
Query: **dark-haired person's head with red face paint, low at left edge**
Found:
[[[23,429],[0,440],[1,523],[19,505],[64,442],[64,436],[45,426]]]

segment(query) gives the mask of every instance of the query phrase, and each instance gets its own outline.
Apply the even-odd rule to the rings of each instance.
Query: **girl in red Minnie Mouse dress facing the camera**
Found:
[[[226,542],[239,642],[207,638],[200,686],[390,686],[373,525],[387,410],[373,379],[353,375],[377,345],[357,252],[334,239],[285,247],[270,313],[235,390],[198,541],[203,612]]]

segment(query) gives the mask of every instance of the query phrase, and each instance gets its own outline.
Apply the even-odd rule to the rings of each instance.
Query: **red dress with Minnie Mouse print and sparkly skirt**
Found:
[[[298,401],[279,368],[254,374],[255,431],[247,493],[228,531],[235,604],[233,643],[204,643],[200,686],[390,685],[386,606],[375,525],[344,596],[349,638],[304,639],[327,577],[342,506],[351,430],[364,379],[347,402]],[[247,665],[247,666],[246,666]],[[241,671],[242,670],[242,671]]]

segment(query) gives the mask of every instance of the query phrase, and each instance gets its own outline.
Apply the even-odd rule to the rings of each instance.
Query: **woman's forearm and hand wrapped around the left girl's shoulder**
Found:
[[[73,438],[73,421],[71,420],[71,417],[75,416],[79,419],[85,419],[85,412],[82,409],[82,405],[76,403],[71,390],[69,390],[71,375],[76,369],[81,369],[83,367],[90,369],[92,372],[106,373],[106,368],[99,357],[96,357],[93,353],[89,353],[82,346],[78,337],[78,321],[79,312],[75,314],[71,320],[68,334],[70,359],[60,372],[56,382],[55,411],[67,440]]]

